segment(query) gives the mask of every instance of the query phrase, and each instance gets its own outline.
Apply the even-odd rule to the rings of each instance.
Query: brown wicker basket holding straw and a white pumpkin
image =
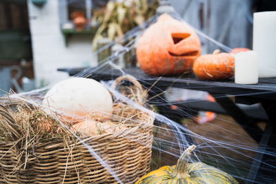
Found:
[[[131,81],[138,88],[137,91],[142,89],[130,76],[120,77],[114,86],[121,80]],[[0,183],[117,183],[77,139],[70,145],[61,141],[37,143],[23,170],[23,166],[18,166],[24,162],[18,161],[18,147],[15,144],[20,132],[8,111],[4,108],[0,108],[0,111],[5,118],[5,122],[1,123],[9,124],[14,137],[12,142],[0,142]],[[83,139],[106,161],[122,183],[135,183],[150,170],[154,117],[144,112],[142,114],[143,123],[135,127]]]

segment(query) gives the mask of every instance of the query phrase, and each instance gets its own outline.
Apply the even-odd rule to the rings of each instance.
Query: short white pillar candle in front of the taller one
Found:
[[[257,53],[255,51],[235,54],[235,83],[258,83]]]

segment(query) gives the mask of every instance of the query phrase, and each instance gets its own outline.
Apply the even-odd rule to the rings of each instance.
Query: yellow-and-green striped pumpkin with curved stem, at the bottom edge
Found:
[[[195,145],[184,151],[177,161],[177,165],[164,166],[142,177],[136,184],[150,183],[208,183],[208,184],[237,184],[235,178],[215,167],[205,163],[188,163]]]

